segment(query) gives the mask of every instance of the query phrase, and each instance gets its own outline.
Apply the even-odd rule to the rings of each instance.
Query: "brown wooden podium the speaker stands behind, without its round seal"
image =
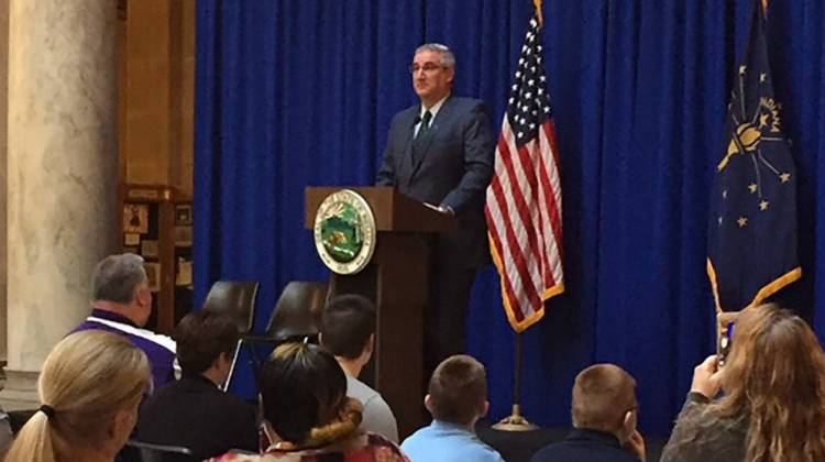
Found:
[[[381,392],[396,419],[400,438],[424,424],[425,377],[422,314],[427,302],[430,237],[452,230],[454,218],[400,195],[391,187],[309,187],[306,189],[306,227],[327,196],[351,189],[366,199],[375,216],[377,238],[370,264],[360,273],[332,273],[330,290],[359,294],[378,309],[373,367],[362,378]]]

